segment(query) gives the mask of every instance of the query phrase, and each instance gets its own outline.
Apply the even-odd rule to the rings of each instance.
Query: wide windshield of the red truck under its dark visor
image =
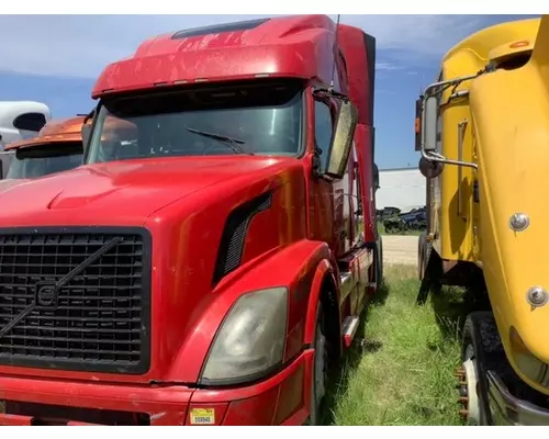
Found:
[[[301,82],[247,83],[111,98],[99,111],[88,164],[176,156],[301,153]]]

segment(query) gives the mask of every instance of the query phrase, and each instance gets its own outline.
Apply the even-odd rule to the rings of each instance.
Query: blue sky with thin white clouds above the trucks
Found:
[[[0,15],[0,95],[86,113],[101,69],[153,35],[267,15]],[[336,19],[336,15],[332,15]],[[414,109],[440,56],[471,32],[534,15],[341,15],[376,36],[376,157],[380,169],[417,166]],[[8,43],[9,42],[9,43]]]

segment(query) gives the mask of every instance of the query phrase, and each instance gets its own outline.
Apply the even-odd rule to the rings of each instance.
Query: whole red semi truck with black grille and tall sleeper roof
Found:
[[[382,280],[374,49],[305,15],[108,66],[85,165],[0,194],[0,424],[318,424]]]

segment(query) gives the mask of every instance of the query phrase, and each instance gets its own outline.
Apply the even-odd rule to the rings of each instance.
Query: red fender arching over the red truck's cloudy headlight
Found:
[[[276,286],[289,290],[284,349],[284,363],[288,363],[304,346],[304,328],[309,320],[314,280],[317,279],[316,299],[322,285],[322,278],[317,278],[318,270],[333,272],[336,267],[326,243],[307,239],[273,249],[243,264],[212,292],[204,294],[181,349],[161,381],[197,383],[210,347],[231,307],[246,293]]]

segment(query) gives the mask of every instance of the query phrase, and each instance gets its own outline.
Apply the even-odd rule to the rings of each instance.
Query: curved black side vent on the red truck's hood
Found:
[[[213,274],[214,285],[240,266],[249,224],[255,215],[267,211],[271,204],[272,194],[268,192],[231,212],[221,237],[220,252]]]

